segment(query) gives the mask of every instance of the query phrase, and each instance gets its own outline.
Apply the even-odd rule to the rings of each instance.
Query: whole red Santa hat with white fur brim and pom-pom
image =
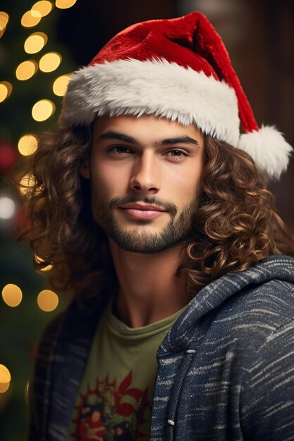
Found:
[[[292,151],[276,128],[258,128],[221,37],[199,12],[132,25],[73,73],[61,125],[89,125],[105,113],[195,123],[247,151],[271,178]]]

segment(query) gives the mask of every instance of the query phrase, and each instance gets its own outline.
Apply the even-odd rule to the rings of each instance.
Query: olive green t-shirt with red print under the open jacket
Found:
[[[129,328],[106,307],[90,349],[68,441],[149,440],[157,349],[183,309]]]

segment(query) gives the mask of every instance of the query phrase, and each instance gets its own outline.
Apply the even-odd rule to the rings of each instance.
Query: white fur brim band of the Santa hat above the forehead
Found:
[[[205,134],[234,146],[239,139],[235,90],[164,59],[129,58],[76,71],[63,101],[61,124],[89,125],[105,113],[154,114],[183,125],[195,123]]]

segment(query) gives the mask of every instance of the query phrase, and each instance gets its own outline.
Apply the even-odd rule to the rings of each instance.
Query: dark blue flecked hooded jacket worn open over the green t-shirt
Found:
[[[45,331],[30,441],[64,441],[97,320],[73,301]],[[294,259],[204,287],[158,352],[150,440],[294,440]]]

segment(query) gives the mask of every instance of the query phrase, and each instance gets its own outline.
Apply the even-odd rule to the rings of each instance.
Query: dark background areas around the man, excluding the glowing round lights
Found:
[[[294,2],[291,0],[78,0],[65,10],[54,8],[39,25],[25,30],[20,18],[34,1],[1,1],[1,11],[10,15],[6,32],[0,39],[0,81],[9,81],[13,93],[0,103],[1,149],[8,146],[16,154],[11,169],[21,170],[24,159],[17,153],[20,136],[54,128],[61,99],[52,97],[55,77],[86,65],[97,51],[124,27],[142,20],[173,18],[191,11],[207,15],[226,44],[233,66],[252,105],[257,123],[276,125],[294,145]],[[36,56],[23,51],[25,38],[42,31],[49,36],[47,46]],[[55,73],[37,73],[27,82],[18,82],[15,70],[21,61],[38,58],[46,51],[60,51],[63,63]],[[21,84],[20,84],[21,83]],[[44,123],[36,123],[30,109],[38,99],[49,98],[56,114]],[[16,162],[16,163],[15,163]],[[2,170],[4,175],[7,170]],[[294,227],[294,161],[271,188],[277,209]],[[0,177],[0,196],[16,192]],[[0,440],[25,439],[27,408],[25,387],[30,378],[35,342],[44,325],[65,302],[51,313],[40,311],[36,297],[47,281],[32,268],[30,250],[15,237],[25,222],[20,207],[11,221],[0,222],[0,292],[7,283],[23,290],[23,302],[16,308],[0,297],[0,364],[11,371],[11,387],[0,393]],[[57,293],[59,294],[59,293]]]

